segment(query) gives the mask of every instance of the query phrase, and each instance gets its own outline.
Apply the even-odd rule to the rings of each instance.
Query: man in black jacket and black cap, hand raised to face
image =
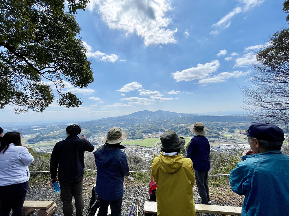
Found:
[[[80,139],[77,136],[80,132],[79,125],[69,125],[66,139],[55,144],[50,158],[50,185],[59,179],[64,216],[72,216],[72,196],[75,199],[76,216],[83,215],[84,151],[93,151],[94,146],[83,134]]]

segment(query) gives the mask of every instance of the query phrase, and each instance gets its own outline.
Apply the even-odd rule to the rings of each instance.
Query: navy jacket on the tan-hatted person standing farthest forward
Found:
[[[187,150],[188,158],[191,158],[194,170],[207,172],[210,170],[210,143],[204,136],[194,136]]]

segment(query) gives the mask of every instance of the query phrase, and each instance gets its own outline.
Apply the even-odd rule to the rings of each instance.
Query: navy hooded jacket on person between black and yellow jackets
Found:
[[[94,153],[97,166],[96,193],[106,201],[123,196],[123,177],[129,172],[127,156],[116,147],[101,146]]]

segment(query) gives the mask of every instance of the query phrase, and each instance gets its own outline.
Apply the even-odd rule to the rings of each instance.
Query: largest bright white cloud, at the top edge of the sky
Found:
[[[176,43],[177,29],[168,29],[171,18],[165,17],[172,10],[170,0],[90,0],[88,10],[95,5],[111,29],[136,32],[144,38],[145,46]]]

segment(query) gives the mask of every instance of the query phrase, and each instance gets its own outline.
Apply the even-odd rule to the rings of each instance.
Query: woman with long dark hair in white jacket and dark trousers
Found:
[[[30,177],[28,165],[34,161],[29,147],[21,145],[19,132],[4,134],[0,146],[0,215],[22,216]]]

